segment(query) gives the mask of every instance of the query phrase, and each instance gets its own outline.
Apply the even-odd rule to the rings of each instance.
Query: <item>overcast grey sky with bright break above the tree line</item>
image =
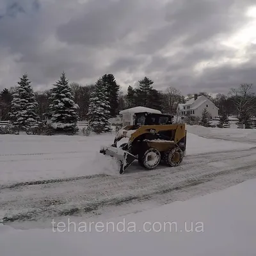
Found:
[[[255,6],[253,6],[253,3]],[[0,89],[28,72],[44,90],[64,70],[124,88],[227,93],[256,83],[255,0],[0,0]]]

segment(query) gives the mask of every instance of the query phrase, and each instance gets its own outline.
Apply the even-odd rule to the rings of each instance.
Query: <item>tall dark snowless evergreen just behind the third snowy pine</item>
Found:
[[[120,86],[116,83],[115,76],[113,74],[105,74],[102,76],[102,83],[106,86],[106,93],[110,106],[110,116],[116,116]]]

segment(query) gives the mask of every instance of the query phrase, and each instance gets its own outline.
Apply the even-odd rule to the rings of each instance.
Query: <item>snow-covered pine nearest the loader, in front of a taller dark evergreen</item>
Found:
[[[100,133],[111,131],[108,122],[110,118],[110,108],[108,93],[106,92],[106,81],[100,78],[95,84],[88,109],[89,126],[93,132]]]

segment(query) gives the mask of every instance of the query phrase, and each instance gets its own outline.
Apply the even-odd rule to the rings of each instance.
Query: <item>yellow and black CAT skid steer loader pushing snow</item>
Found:
[[[134,160],[141,166],[154,169],[164,161],[168,166],[178,166],[186,155],[186,124],[172,124],[173,116],[154,113],[135,113],[134,125],[117,132],[113,145],[103,147],[100,153],[120,161],[120,174]],[[118,141],[129,138],[117,147]]]

